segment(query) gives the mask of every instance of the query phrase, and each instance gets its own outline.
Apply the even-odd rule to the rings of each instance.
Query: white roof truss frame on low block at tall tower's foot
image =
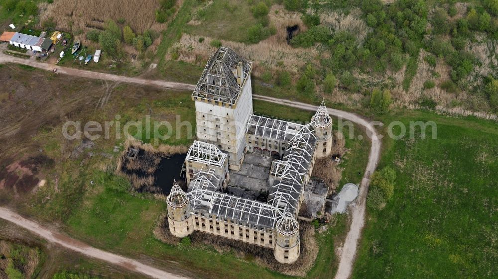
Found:
[[[223,167],[227,156],[216,145],[196,140],[190,147],[186,160]]]

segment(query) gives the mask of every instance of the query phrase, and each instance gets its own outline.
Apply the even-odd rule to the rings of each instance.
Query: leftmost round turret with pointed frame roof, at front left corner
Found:
[[[176,184],[166,199],[169,231],[176,237],[185,237],[194,231],[187,194]]]

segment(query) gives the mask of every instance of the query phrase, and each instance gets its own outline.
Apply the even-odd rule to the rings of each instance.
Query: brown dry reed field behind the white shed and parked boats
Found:
[[[182,1],[178,2],[180,5]],[[53,18],[61,30],[82,30],[80,39],[85,38],[84,34],[88,30],[103,29],[107,19],[124,19],[125,24],[139,33],[147,29],[160,31],[166,25],[155,21],[155,10],[159,8],[159,3],[159,0],[55,0],[42,10],[40,22]]]

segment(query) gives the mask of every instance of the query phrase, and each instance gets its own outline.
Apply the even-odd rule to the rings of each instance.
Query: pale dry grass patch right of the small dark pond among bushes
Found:
[[[372,31],[372,28],[363,21],[361,16],[361,9],[355,8],[349,14],[331,11],[328,14],[320,15],[320,19],[322,24],[335,31],[349,31],[353,35],[356,35],[358,42],[362,44],[367,34]]]

